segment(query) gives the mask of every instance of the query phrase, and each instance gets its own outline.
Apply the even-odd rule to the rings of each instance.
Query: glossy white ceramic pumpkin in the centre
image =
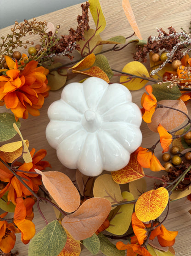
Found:
[[[131,93],[101,78],[65,86],[48,117],[46,138],[59,161],[88,176],[125,167],[142,141],[141,112]]]

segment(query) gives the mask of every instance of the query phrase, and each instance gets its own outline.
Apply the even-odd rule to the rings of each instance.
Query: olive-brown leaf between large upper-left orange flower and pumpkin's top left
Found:
[[[59,66],[62,66],[62,63],[57,62],[49,67],[50,70],[58,68],[57,70],[50,71],[47,75],[48,85],[51,86],[51,91],[62,88],[67,80],[67,70],[65,68],[59,68]]]

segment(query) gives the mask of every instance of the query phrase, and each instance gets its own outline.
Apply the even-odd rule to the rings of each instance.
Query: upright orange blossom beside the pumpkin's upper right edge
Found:
[[[142,106],[145,109],[142,119],[146,123],[151,123],[152,115],[155,112],[155,109],[157,107],[157,99],[152,94],[152,86],[151,85],[146,86],[146,91],[147,91],[148,95],[146,93],[144,93],[141,98],[141,102],[143,102]]]

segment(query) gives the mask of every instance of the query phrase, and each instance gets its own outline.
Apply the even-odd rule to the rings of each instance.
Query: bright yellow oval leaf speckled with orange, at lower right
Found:
[[[169,202],[169,192],[160,187],[142,194],[136,204],[135,213],[139,220],[150,221],[157,219]]]

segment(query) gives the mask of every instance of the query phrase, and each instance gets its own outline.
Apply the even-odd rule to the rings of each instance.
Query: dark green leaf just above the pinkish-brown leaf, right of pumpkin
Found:
[[[169,83],[152,84],[152,94],[157,98],[157,101],[162,100],[177,100],[180,96],[180,89],[178,86],[167,88]]]

